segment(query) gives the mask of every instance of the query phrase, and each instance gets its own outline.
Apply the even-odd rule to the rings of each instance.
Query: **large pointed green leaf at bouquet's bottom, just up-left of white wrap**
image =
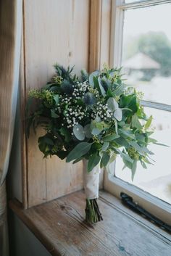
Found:
[[[90,149],[93,143],[88,142],[80,142],[74,149],[67,155],[66,162],[70,162],[72,160],[83,157]]]

